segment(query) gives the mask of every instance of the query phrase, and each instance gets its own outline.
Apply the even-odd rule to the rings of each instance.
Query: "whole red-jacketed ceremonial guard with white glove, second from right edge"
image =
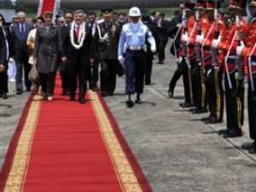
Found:
[[[227,114],[227,129],[219,131],[224,137],[241,137],[244,108],[244,77],[241,74],[241,57],[236,55],[236,47],[240,40],[238,34],[247,32],[247,24],[240,16],[244,10],[246,1],[230,0],[230,26],[228,27],[227,40],[220,38],[212,41],[212,47],[224,50],[224,73],[225,73],[225,102]],[[239,70],[237,70],[239,68]],[[240,72],[240,73],[238,73]],[[238,74],[238,75],[237,75]],[[238,76],[238,78],[236,78]]]

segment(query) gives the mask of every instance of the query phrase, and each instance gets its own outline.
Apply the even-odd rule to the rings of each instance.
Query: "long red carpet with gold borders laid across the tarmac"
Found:
[[[102,98],[89,91],[84,105],[70,102],[57,77],[54,102],[27,103],[0,191],[152,191]]]

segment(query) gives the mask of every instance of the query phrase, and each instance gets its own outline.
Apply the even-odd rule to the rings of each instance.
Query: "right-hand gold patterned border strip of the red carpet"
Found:
[[[113,131],[108,115],[104,108],[102,108],[97,93],[92,91],[88,91],[88,93],[90,94],[92,107],[96,114],[100,130],[102,131],[102,138],[108,148],[108,153],[113,161],[113,166],[118,174],[123,190],[125,192],[142,192],[143,189],[137,181],[137,177],[131,168],[131,164]]]

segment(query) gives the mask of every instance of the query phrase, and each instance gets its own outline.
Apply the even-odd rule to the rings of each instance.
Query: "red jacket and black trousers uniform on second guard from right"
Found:
[[[223,67],[225,73],[224,84],[226,90],[225,103],[227,115],[227,131],[224,133],[224,137],[240,137],[242,135],[241,126],[243,125],[244,87],[240,85],[238,86],[238,84],[241,84],[241,80],[236,79],[235,75],[237,72],[236,61],[238,58],[238,55],[236,55],[236,47],[239,44],[238,30],[241,30],[244,33],[247,31],[247,24],[241,17],[240,25],[241,28],[238,29],[236,20],[233,20],[232,23],[230,23],[230,27],[227,29],[226,39],[223,38],[218,44],[218,49],[224,52],[224,56],[226,56],[230,50],[230,55],[227,60],[227,68],[230,72],[229,76],[227,74],[225,63]],[[232,42],[233,39],[235,39],[234,42]],[[231,45],[232,47],[230,49]],[[223,58],[221,62],[223,62]],[[232,89],[230,89],[229,77]]]

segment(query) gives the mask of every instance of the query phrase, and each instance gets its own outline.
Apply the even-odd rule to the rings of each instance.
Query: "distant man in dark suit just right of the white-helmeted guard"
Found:
[[[162,13],[157,12],[155,14],[154,26],[156,27],[156,44],[157,44],[157,53],[158,53],[158,64],[164,64],[166,59],[166,44],[168,42],[167,30],[168,30],[168,21],[165,20],[165,17]]]

